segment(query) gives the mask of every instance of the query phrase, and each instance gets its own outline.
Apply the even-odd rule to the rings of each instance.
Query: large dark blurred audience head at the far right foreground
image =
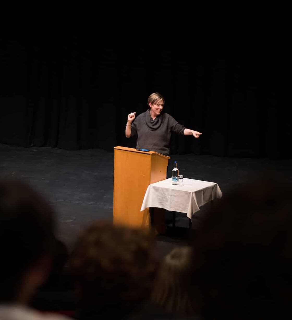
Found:
[[[291,316],[290,181],[267,172],[228,190],[194,243],[193,292],[206,319]]]

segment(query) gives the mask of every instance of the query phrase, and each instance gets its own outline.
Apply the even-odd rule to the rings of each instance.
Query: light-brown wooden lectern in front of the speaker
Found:
[[[168,159],[155,151],[114,147],[113,223],[150,228],[149,208],[140,209],[148,186],[166,179]]]

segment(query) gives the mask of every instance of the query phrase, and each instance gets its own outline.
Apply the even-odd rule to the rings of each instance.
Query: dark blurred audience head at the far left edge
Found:
[[[54,212],[28,184],[0,181],[0,301],[27,303],[50,269]]]

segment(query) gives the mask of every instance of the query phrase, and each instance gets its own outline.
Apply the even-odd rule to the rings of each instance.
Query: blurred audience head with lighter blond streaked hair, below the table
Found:
[[[192,248],[180,246],[161,262],[152,292],[152,302],[176,315],[193,315],[193,288],[190,277]]]

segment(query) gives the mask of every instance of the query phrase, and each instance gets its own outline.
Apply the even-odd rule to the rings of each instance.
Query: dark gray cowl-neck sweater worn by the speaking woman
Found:
[[[169,142],[172,132],[182,134],[185,127],[179,124],[168,113],[162,113],[154,120],[150,116],[150,109],[135,118],[131,125],[131,137],[137,136],[139,149],[150,149],[169,155]]]

